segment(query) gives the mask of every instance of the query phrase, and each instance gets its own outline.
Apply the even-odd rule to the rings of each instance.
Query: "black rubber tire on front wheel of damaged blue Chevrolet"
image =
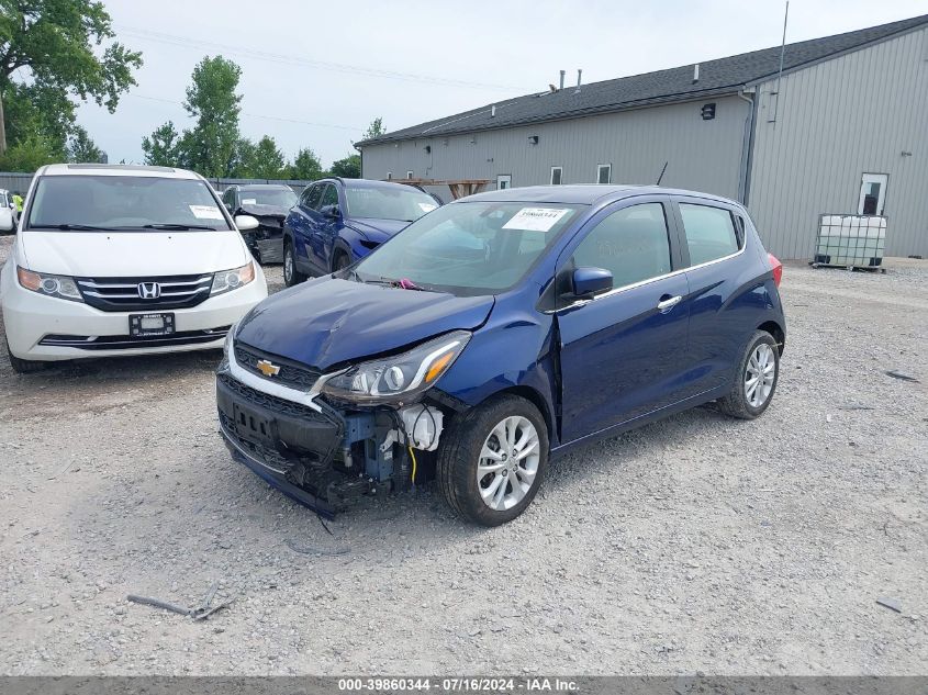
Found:
[[[494,509],[483,502],[480,494],[483,483],[478,480],[478,463],[484,442],[494,436],[494,428],[508,417],[523,417],[535,428],[538,438],[538,461],[529,483],[530,487],[524,496],[511,508]],[[441,494],[457,514],[482,526],[500,526],[513,520],[532,504],[547,470],[548,428],[545,418],[538,408],[525,399],[503,395],[491,399],[452,421],[441,436],[436,477]],[[511,474],[516,477],[515,469]],[[502,483],[503,496],[508,496],[506,491],[512,491],[512,485],[508,481]]]

